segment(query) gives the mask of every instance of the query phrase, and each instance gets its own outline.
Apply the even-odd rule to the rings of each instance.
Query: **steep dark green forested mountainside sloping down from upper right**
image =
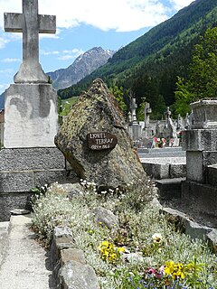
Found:
[[[103,79],[109,87],[123,87],[137,102],[151,103],[154,116],[175,102],[177,76],[185,77],[199,35],[217,24],[217,0],[196,0],[171,19],[151,29],[119,50],[109,62],[79,84],[59,91],[61,98],[80,95],[92,79]]]

